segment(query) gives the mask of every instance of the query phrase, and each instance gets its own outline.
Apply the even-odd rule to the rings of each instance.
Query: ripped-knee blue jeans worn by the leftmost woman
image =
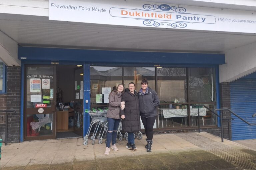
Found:
[[[111,139],[112,139],[112,145],[116,144],[117,128],[118,128],[119,122],[120,122],[120,119],[108,118],[108,132],[107,132],[107,139],[106,139],[107,147],[110,147]]]

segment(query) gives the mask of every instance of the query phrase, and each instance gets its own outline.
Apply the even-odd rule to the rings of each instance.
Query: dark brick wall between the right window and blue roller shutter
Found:
[[[229,83],[220,83],[220,108],[228,108],[230,109],[230,87]],[[223,119],[230,118],[231,115],[228,111],[223,111]],[[224,131],[224,138],[228,139],[231,138],[231,123],[229,127],[229,136],[228,136],[228,121],[223,121],[223,131]],[[204,129],[211,134],[221,137],[221,129],[214,128],[214,129]]]

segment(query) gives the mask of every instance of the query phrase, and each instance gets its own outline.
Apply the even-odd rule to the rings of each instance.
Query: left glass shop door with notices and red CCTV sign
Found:
[[[55,139],[56,66],[26,65],[24,140]]]

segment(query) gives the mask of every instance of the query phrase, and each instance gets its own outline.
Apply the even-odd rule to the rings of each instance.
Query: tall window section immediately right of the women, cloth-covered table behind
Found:
[[[157,79],[159,128],[188,126],[187,105],[174,104],[187,102],[186,68],[157,68]]]

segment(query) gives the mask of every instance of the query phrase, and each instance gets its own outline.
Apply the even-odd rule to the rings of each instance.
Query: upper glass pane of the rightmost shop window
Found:
[[[214,69],[189,68],[189,102],[214,101]]]

